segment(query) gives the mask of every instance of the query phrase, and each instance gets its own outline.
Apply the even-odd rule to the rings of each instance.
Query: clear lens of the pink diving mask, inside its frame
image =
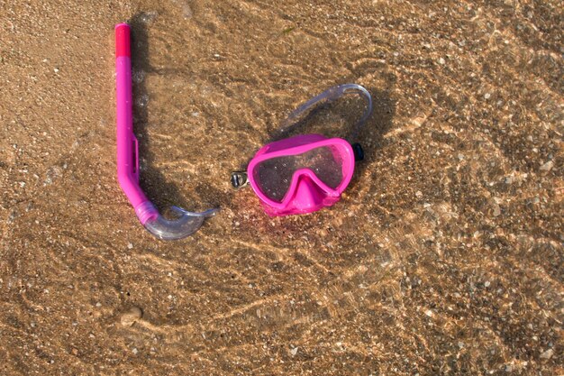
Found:
[[[322,146],[302,154],[285,155],[263,160],[252,171],[262,193],[269,199],[282,202],[297,170],[308,169],[330,188],[337,188],[343,179],[342,157],[339,148]]]

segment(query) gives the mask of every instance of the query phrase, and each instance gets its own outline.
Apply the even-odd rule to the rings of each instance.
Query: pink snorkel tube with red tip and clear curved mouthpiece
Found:
[[[188,212],[172,206],[179,216],[168,220],[160,216],[157,208],[145,196],[139,186],[139,149],[133,134],[132,118],[132,60],[130,27],[127,23],[115,26],[115,72],[117,98],[117,179],[135,208],[135,213],[151,234],[159,239],[176,240],[193,234],[208,216],[219,209],[203,213]]]

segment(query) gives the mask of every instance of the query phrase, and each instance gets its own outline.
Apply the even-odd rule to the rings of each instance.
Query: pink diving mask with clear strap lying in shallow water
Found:
[[[310,99],[288,117],[286,124],[290,126],[280,133],[288,133],[291,125],[314,105],[332,102],[350,92],[361,94],[367,101],[352,136],[356,137],[372,112],[370,94],[356,84],[331,87]],[[321,134],[298,135],[263,146],[250,160],[246,173],[232,174],[232,185],[239,188],[249,182],[269,216],[312,213],[339,201],[352,179],[355,160],[362,157],[358,143],[351,145],[341,138]]]

